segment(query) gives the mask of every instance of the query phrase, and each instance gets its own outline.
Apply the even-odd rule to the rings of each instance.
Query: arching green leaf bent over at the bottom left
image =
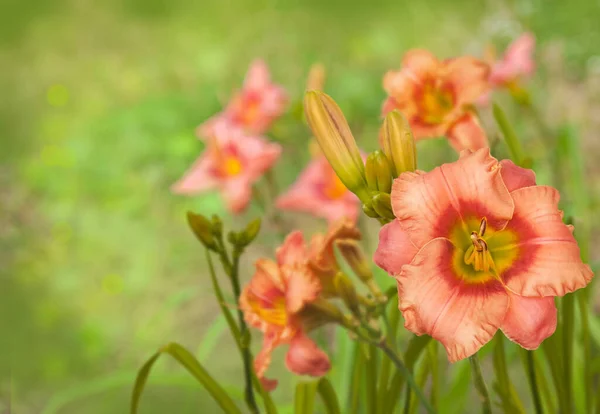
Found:
[[[223,387],[221,387],[213,379],[213,377],[210,376],[210,374],[189,351],[174,342],[171,342],[159,349],[158,352],[156,352],[138,372],[131,396],[131,414],[136,414],[138,412],[139,401],[142,396],[142,392],[144,391],[146,381],[148,380],[150,370],[158,358],[164,353],[171,355],[173,358],[175,358],[175,360],[177,360],[177,362],[187,369],[188,372],[202,384],[202,386],[214,398],[223,411],[228,414],[241,414],[241,411],[238,409],[229,395],[227,395]]]

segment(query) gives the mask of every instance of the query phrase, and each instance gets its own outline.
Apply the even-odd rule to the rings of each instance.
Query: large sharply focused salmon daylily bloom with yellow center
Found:
[[[537,348],[556,328],[554,297],[593,277],[558,200],[489,149],[397,178],[397,219],[382,228],[374,259],[397,280],[405,327],[440,341],[451,362],[498,329]]]

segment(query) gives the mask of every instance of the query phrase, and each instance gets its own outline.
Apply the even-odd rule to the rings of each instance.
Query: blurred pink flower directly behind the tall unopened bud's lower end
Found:
[[[360,203],[327,159],[319,156],[308,164],[290,189],[277,198],[276,206],[282,210],[309,213],[333,223],[341,217],[355,222]]]

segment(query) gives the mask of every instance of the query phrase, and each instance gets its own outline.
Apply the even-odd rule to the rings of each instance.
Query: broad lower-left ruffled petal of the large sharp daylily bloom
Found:
[[[440,341],[450,362],[473,355],[492,339],[509,305],[500,282],[461,280],[452,268],[453,249],[447,239],[432,240],[396,277],[404,326]]]

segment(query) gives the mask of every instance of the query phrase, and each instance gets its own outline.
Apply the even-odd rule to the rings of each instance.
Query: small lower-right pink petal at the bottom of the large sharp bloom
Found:
[[[510,294],[510,305],[500,327],[504,335],[525,349],[536,349],[556,330],[554,298],[526,298]]]

